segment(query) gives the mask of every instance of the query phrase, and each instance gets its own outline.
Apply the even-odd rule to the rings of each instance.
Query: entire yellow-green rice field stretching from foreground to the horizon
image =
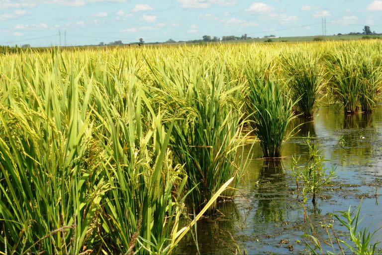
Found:
[[[0,55],[0,254],[171,254],[190,236],[197,247],[197,221],[243,196],[253,158],[276,164],[265,171],[289,160],[286,141],[319,106],[374,114],[381,50],[357,40]]]

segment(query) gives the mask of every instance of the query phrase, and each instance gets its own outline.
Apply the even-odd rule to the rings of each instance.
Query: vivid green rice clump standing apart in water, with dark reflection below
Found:
[[[281,157],[283,142],[289,136],[286,128],[294,118],[292,108],[295,102],[290,99],[286,84],[281,80],[259,78],[250,67],[246,69],[246,75],[246,105],[264,157]]]

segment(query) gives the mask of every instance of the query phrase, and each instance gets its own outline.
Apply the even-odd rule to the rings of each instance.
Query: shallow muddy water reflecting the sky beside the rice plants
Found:
[[[291,126],[303,121],[295,120]],[[284,148],[286,158],[266,161],[258,144],[241,183],[240,196],[233,202],[218,204],[217,217],[197,223],[197,236],[189,235],[177,249],[177,254],[197,254],[197,238],[201,254],[227,254],[239,249],[248,254],[303,254],[308,250],[302,235],[312,234],[304,224],[303,210],[296,198],[295,182],[290,175],[291,156],[300,155],[306,162],[307,146],[302,138],[309,132],[336,167],[337,178],[325,187],[317,199],[316,208],[307,201],[307,214],[318,236],[327,237],[323,224],[332,224],[336,233],[346,229],[331,217],[336,211],[355,208],[363,198],[361,227],[374,232],[382,227],[382,106],[373,114],[344,116],[342,109],[320,107],[314,122],[303,124]],[[376,192],[377,191],[377,192]],[[347,240],[344,238],[344,240]],[[382,240],[382,231],[373,241]],[[380,245],[381,246],[381,245]],[[332,248],[323,244],[325,251]],[[339,252],[335,246],[334,252]]]

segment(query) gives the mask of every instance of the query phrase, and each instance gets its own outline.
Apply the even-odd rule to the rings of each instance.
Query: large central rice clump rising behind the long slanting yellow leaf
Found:
[[[189,66],[156,63],[151,68],[155,69],[155,99],[177,118],[171,148],[177,162],[184,164],[187,188],[198,212],[229,178],[235,176],[233,187],[240,180],[243,161],[236,152],[243,123],[235,95],[241,86],[231,87],[224,65],[206,68],[197,58],[187,61]],[[231,189],[223,195],[234,193]]]

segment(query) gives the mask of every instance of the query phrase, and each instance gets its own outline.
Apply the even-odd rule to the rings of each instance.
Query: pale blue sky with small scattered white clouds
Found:
[[[382,32],[382,0],[0,0],[0,45],[321,35],[323,18],[327,35]]]

